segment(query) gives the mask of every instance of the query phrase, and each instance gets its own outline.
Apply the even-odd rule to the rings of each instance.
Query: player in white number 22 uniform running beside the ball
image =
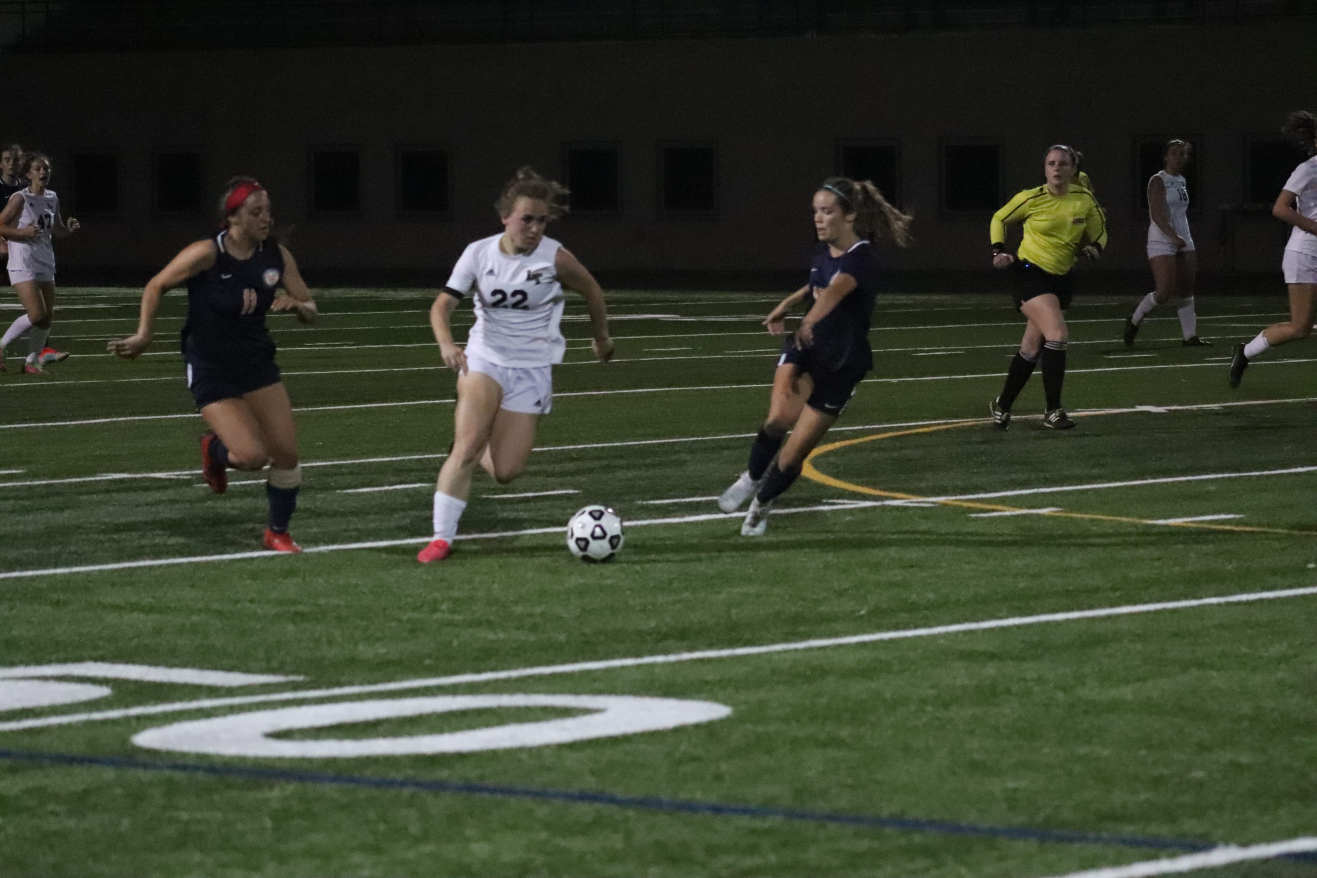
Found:
[[[448,557],[477,465],[499,484],[525,469],[536,420],[553,405],[553,365],[566,349],[558,330],[564,287],[586,300],[594,355],[612,357],[603,290],[561,244],[544,237],[548,222],[566,212],[566,195],[520,168],[495,203],[503,233],[468,245],[429,311],[439,353],[458,376],[453,446],[435,486],[435,538],[416,555],[421,563]],[[468,295],[475,325],[462,349],[449,319]]]

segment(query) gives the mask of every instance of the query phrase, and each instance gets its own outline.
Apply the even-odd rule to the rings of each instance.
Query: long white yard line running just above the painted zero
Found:
[[[782,512],[785,511],[786,509],[782,509]],[[774,509],[773,515],[778,515],[778,511]],[[557,532],[560,530],[560,528],[554,528],[553,530]],[[274,553],[257,552],[249,554],[266,555]],[[848,634],[844,637],[819,637],[813,640],[766,644],[759,646],[735,646],[731,649],[703,649],[703,650],[682,652],[682,653],[666,653],[660,656],[637,656],[631,658],[605,658],[597,661],[572,662],[565,665],[539,665],[533,667],[519,667],[502,671],[453,674],[449,677],[429,677],[420,679],[394,681],[389,683],[367,683],[361,686],[338,686],[331,688],[316,688],[316,690],[303,690],[303,691],[269,692],[265,695],[205,698],[191,702],[170,702],[167,704],[145,704],[141,707],[124,707],[109,711],[91,711],[84,713],[63,713],[59,716],[41,716],[26,720],[11,720],[8,723],[0,723],[0,732],[17,732],[22,729],[47,728],[54,725],[72,725],[75,723],[119,720],[130,716],[176,713],[180,711],[198,711],[213,707],[234,707],[242,704],[261,704],[269,702],[338,698],[345,695],[363,695],[369,692],[395,692],[395,691],[406,691],[416,688],[432,688],[439,686],[461,686],[466,683],[489,683],[506,679],[525,679],[529,677],[579,674],[587,671],[612,670],[616,667],[641,667],[647,665],[676,665],[680,662],[709,661],[716,658],[747,658],[751,656],[770,656],[774,653],[827,649],[832,646],[856,646],[861,644],[877,644],[894,640],[940,637],[946,634],[961,634],[961,633],[980,632],[980,631],[1022,628],[1026,625],[1081,621],[1090,619],[1112,619],[1118,616],[1166,612],[1171,609],[1193,609],[1198,607],[1220,607],[1220,606],[1242,604],[1242,603],[1256,603],[1262,600],[1281,600],[1285,598],[1308,598],[1312,595],[1317,595],[1317,586],[1310,586],[1305,588],[1284,588],[1277,591],[1241,592],[1241,594],[1222,595],[1214,598],[1192,598],[1187,600],[1163,600],[1147,604],[1098,607],[1094,609],[1075,609],[1069,612],[1039,613],[1033,616],[1013,616],[1008,619],[988,619],[981,621],[956,623],[948,625],[930,625],[926,628],[901,628],[894,631],[881,631],[865,634]],[[1150,873],[1150,874],[1158,874],[1158,873]]]

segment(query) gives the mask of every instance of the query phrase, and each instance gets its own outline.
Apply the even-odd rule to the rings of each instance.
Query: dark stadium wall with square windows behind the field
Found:
[[[204,155],[213,197],[232,174],[270,188],[295,226],[308,279],[407,279],[437,286],[462,246],[499,229],[491,203],[519,165],[560,174],[564,143],[622,149],[619,216],[572,217],[551,234],[614,275],[795,271],[810,242],[814,186],[836,171],[846,138],[900,143],[903,203],[917,245],[890,255],[909,271],[988,266],[988,213],[939,207],[940,147],[998,143],[1002,199],[1040,184],[1043,150],[1067,142],[1110,217],[1100,270],[1146,270],[1137,208],[1138,138],[1200,143],[1195,238],[1208,271],[1277,270],[1284,229],[1245,199],[1246,145],[1285,112],[1317,104],[1312,58],[1295,24],[1189,25],[846,38],[691,39],[154,54],[9,54],[0,65],[21,112],[5,141],[50,151],[53,188],[79,151],[119,157],[120,205],[86,213],[59,247],[62,271],[87,279],[162,265],[213,228],[211,215],[154,213],[153,157]],[[716,143],[718,211],[664,217],[657,147]],[[452,154],[444,220],[396,216],[398,145]],[[361,209],[308,215],[308,150],[361,153]],[[1297,158],[1296,158],[1297,162]],[[63,183],[63,187],[62,187]],[[76,192],[68,199],[76,207]],[[68,211],[72,212],[72,211]],[[1222,246],[1233,230],[1234,246]],[[1114,276],[1114,275],[1113,275]]]

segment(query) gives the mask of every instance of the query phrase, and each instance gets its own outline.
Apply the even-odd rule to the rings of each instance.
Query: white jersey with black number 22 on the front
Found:
[[[466,355],[511,369],[561,363],[566,340],[558,329],[564,301],[554,259],[562,245],[543,238],[532,253],[510,255],[499,249],[502,237],[469,244],[444,284],[458,297],[474,294]]]

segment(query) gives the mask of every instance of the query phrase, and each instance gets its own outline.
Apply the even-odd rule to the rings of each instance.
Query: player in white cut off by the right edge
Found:
[[[1295,168],[1271,207],[1271,216],[1293,226],[1280,270],[1289,287],[1289,320],[1267,326],[1247,345],[1235,345],[1230,359],[1230,386],[1238,387],[1252,359],[1276,345],[1306,338],[1313,330],[1317,299],[1317,116],[1289,113],[1284,129],[1309,157]]]

